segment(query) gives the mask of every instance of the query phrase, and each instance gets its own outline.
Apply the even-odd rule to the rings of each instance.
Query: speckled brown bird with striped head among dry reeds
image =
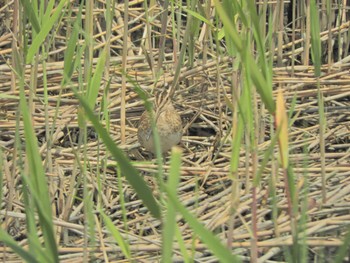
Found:
[[[171,147],[177,145],[182,137],[182,122],[179,113],[165,89],[155,93],[152,115],[159,134],[160,149],[164,155]],[[149,152],[156,154],[156,147],[152,132],[152,119],[146,110],[142,113],[137,137],[139,143]]]

